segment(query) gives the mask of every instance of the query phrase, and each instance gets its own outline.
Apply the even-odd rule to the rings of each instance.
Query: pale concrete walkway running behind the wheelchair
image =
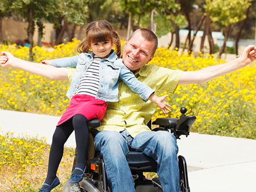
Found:
[[[0,131],[45,137],[51,144],[60,117],[0,110]],[[178,140],[185,156],[191,192],[256,191],[256,140],[191,132]],[[66,143],[75,146],[74,133]]]

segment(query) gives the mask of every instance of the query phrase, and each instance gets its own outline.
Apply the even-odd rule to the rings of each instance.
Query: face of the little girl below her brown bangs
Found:
[[[103,58],[107,58],[109,56],[109,53],[112,49],[113,43],[108,41],[102,41],[97,43],[91,43],[90,48],[92,49],[92,52]]]

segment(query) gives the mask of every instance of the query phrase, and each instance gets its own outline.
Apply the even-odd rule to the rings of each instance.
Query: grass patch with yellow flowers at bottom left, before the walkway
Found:
[[[46,178],[50,145],[44,138],[13,133],[0,134],[0,188],[5,192],[38,191]],[[61,184],[52,191],[62,191],[70,177],[75,149],[65,148],[58,177]]]

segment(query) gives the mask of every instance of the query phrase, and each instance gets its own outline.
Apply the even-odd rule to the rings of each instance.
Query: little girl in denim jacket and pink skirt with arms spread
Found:
[[[164,113],[169,111],[170,105],[164,102],[166,96],[157,97],[153,89],[137,80],[123,64],[122,59],[118,59],[121,55],[121,41],[108,21],[91,22],[87,26],[85,36],[85,40],[77,47],[79,55],[42,62],[58,67],[76,67],[76,72],[67,92],[67,96],[71,98],[70,105],[55,129],[47,177],[39,192],[49,192],[59,185],[56,173],[64,144],[73,130],[77,145],[77,162],[70,181],[79,182],[83,179],[89,145],[87,121],[101,120],[107,109],[107,102],[118,101],[118,78],[138,93],[143,101],[150,99],[161,107]],[[116,45],[117,54],[112,49],[113,45]]]

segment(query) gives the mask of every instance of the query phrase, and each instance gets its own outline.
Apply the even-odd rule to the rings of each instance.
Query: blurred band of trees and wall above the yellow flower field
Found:
[[[255,6],[255,0],[1,0],[0,43],[59,45],[83,39],[87,23],[106,19],[125,39],[149,28],[159,46],[238,55],[255,43]]]

